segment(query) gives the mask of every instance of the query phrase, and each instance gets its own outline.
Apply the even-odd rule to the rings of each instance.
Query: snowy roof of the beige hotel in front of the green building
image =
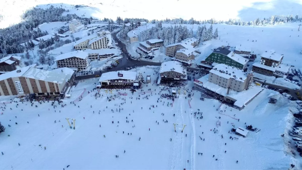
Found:
[[[215,67],[213,67],[212,70],[210,70],[210,73],[216,74],[226,79],[232,78],[241,82],[244,82],[246,80],[246,74],[245,72],[243,72],[243,70],[227,66],[225,64],[217,64]]]

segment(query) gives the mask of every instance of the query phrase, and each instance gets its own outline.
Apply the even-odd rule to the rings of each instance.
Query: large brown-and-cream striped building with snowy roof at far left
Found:
[[[72,77],[67,74],[37,69],[31,65],[0,75],[0,95],[59,95],[71,81]]]

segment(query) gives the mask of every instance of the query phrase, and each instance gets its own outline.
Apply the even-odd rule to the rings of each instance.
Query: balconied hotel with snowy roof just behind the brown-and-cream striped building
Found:
[[[56,57],[58,68],[68,67],[77,68],[78,70],[86,70],[90,65],[88,54],[84,51],[73,51],[61,54]]]

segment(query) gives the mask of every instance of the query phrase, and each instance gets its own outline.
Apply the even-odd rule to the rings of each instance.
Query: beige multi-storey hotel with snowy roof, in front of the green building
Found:
[[[237,68],[232,68],[225,64],[217,64],[209,73],[209,82],[223,88],[230,88],[241,92],[247,90],[253,80],[253,72],[243,72]]]

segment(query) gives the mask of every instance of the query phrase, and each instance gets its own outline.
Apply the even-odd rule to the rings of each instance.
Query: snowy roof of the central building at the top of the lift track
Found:
[[[182,66],[182,63],[178,62],[178,61],[163,62],[160,66],[159,73],[163,73],[163,72],[166,72],[166,71],[175,71],[177,73],[187,75],[186,67]]]

